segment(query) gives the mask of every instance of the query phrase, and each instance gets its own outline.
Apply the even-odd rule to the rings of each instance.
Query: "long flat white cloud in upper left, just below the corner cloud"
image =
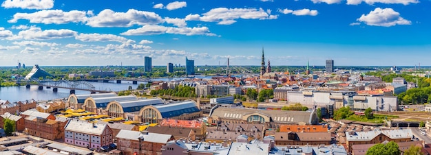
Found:
[[[78,23],[87,21],[86,12],[72,10],[63,12],[63,10],[41,10],[33,13],[16,13],[9,23],[17,23],[19,19],[27,19],[30,23],[44,24],[65,24]]]

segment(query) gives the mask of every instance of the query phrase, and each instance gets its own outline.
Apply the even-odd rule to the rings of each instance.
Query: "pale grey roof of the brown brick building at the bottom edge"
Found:
[[[167,143],[172,135],[171,134],[156,134],[148,132],[147,134],[143,134],[138,131],[131,131],[131,130],[120,130],[118,132],[116,138],[117,139],[131,139],[135,141],[139,141],[139,137],[142,137],[144,141],[148,141],[151,143]]]

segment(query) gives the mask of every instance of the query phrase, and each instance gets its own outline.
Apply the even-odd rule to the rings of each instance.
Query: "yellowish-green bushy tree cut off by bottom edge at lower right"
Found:
[[[375,155],[375,154],[399,155],[399,154],[401,154],[401,151],[399,150],[397,143],[390,141],[387,144],[379,143],[377,145],[374,145],[374,146],[370,147],[366,152],[366,155]]]

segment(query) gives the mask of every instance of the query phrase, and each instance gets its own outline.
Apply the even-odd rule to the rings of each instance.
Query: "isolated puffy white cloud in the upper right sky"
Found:
[[[390,27],[395,25],[411,25],[412,22],[399,16],[392,8],[375,8],[368,14],[362,14],[357,21],[364,22],[366,25]]]

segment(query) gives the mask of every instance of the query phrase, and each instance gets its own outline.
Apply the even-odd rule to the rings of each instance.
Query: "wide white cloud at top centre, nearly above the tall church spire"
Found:
[[[262,8],[213,8],[200,16],[189,14],[186,21],[218,22],[220,25],[231,25],[237,19],[277,19],[277,16],[268,14]]]

